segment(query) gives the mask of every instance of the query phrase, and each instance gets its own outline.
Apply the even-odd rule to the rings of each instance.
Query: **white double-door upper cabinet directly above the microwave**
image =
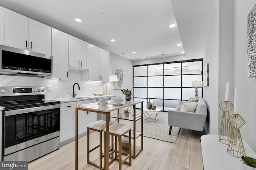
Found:
[[[51,27],[0,6],[0,44],[51,55]]]

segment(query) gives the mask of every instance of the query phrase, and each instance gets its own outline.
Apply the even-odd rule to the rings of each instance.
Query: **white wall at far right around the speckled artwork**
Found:
[[[256,0],[234,0],[234,87],[238,88],[238,112],[246,123],[242,138],[256,151],[256,78],[247,77],[247,15]],[[250,155],[246,155],[250,156]]]

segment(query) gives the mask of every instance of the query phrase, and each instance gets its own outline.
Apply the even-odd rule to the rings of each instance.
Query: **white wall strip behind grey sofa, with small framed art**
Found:
[[[218,42],[219,42],[219,12],[218,7],[212,20],[212,26],[208,35],[206,50],[203,58],[203,68],[209,63],[209,86],[204,86],[204,99],[207,104],[207,123],[210,134],[218,134]]]

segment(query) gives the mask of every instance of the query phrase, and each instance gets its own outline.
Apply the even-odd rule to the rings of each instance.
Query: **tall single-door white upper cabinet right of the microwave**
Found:
[[[68,34],[52,28],[52,76],[46,78],[68,79]]]

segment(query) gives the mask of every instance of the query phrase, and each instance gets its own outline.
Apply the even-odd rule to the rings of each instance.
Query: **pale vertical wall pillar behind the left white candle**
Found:
[[[224,101],[227,82],[230,82],[229,101],[234,103],[234,0],[219,1],[218,70],[218,103]],[[219,132],[223,115],[220,108],[218,115]]]

